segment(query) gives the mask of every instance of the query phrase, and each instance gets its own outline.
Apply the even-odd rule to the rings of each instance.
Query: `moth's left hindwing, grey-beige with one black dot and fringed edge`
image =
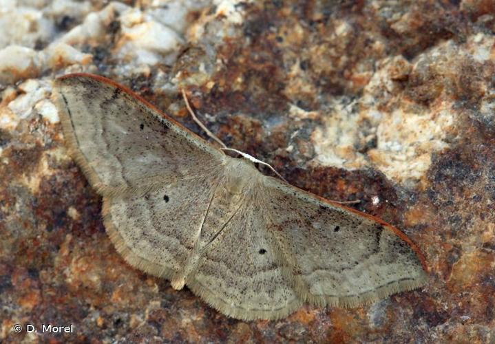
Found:
[[[172,279],[201,235],[216,182],[215,175],[204,175],[144,194],[103,197],[105,228],[116,250],[132,266]]]

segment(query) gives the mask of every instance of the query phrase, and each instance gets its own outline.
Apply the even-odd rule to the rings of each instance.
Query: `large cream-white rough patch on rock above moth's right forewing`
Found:
[[[457,136],[456,121],[463,115],[456,109],[452,92],[456,73],[471,61],[481,68],[483,63],[491,63],[494,41],[476,34],[461,45],[439,43],[412,63],[402,56],[379,61],[358,100],[359,106],[351,109],[332,105],[333,111],[322,116],[324,126],[311,136],[314,162],[344,169],[370,166],[406,187],[416,186],[430,169],[432,155],[449,147]],[[414,103],[414,90],[406,93],[407,88],[405,91],[401,84],[413,73],[420,76],[417,85],[436,87],[427,93],[428,103]],[[479,111],[470,116],[493,122],[494,92],[483,89],[482,94]],[[368,146],[366,142],[374,143]]]

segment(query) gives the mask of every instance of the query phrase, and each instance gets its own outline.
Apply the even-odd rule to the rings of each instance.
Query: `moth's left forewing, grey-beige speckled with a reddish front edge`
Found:
[[[70,74],[55,91],[70,151],[103,195],[193,178],[220,162],[222,153],[110,80]]]

